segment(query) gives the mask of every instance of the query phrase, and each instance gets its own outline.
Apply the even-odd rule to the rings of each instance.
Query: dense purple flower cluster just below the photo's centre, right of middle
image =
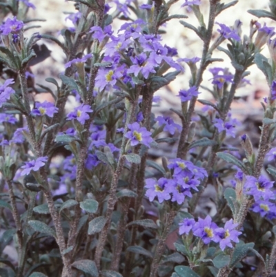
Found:
[[[168,168],[173,171],[172,179],[146,179],[146,196],[150,201],[157,197],[160,203],[170,200],[181,205],[187,196],[192,197],[193,191],[198,191],[200,181],[207,177],[205,169],[180,158],[170,160]]]

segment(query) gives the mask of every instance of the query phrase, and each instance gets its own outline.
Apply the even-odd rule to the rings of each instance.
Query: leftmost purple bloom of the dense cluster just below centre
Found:
[[[170,199],[172,180],[160,178],[158,182],[155,179],[146,179],[146,196],[152,202],[157,196],[158,202]]]

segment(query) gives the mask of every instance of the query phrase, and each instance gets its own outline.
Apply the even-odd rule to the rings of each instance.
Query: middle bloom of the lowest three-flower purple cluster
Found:
[[[198,219],[198,222],[196,222],[193,227],[193,233],[195,236],[201,238],[204,244],[208,245],[211,240],[215,242],[219,240],[215,233],[215,229],[217,229],[217,225],[212,222],[212,218],[210,218],[210,216],[206,216],[205,219]]]

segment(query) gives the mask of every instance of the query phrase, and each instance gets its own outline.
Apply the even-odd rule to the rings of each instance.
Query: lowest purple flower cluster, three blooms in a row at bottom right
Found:
[[[206,216],[205,219],[199,218],[197,222],[193,218],[184,218],[179,223],[179,234],[188,234],[192,231],[193,235],[201,238],[206,245],[211,241],[219,242],[219,247],[224,251],[226,247],[233,248],[233,242],[239,242],[238,236],[242,232],[237,231],[236,227],[237,224],[233,223],[233,219],[228,220],[224,227],[218,227],[210,216]]]

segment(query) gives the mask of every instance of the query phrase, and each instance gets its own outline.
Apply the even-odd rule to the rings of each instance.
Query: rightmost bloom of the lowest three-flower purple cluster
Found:
[[[239,242],[237,238],[242,232],[237,231],[235,228],[237,227],[237,223],[233,223],[233,219],[228,220],[224,228],[215,229],[215,234],[219,237],[219,247],[222,251],[226,249],[226,247],[233,248],[232,242]]]

